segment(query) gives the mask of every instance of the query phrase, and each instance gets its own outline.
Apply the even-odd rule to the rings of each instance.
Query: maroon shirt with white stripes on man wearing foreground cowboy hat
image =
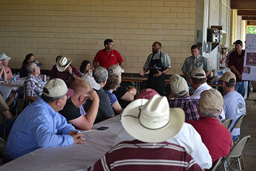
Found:
[[[184,147],[168,142],[148,143],[139,140],[116,145],[91,167],[93,170],[104,168],[122,171],[201,170]]]

